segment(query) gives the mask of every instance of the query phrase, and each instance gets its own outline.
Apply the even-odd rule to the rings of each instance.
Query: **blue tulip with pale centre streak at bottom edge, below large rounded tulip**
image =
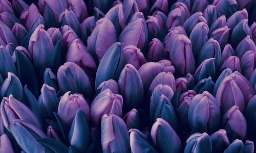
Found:
[[[208,152],[212,151],[211,139],[207,133],[195,133],[187,139],[184,152]]]

